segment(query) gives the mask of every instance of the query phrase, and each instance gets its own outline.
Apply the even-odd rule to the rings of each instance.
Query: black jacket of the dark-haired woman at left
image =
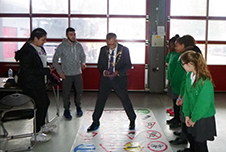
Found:
[[[50,73],[49,68],[44,68],[38,52],[29,43],[15,53],[19,61],[20,71],[18,84],[22,89],[46,89],[45,75]]]

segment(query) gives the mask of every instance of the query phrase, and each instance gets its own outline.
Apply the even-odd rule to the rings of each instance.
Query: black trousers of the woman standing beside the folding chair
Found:
[[[23,93],[28,95],[35,101],[37,108],[36,111],[36,132],[41,130],[41,126],[45,124],[45,118],[47,115],[47,110],[50,104],[50,100],[46,89],[43,90],[32,90],[23,89]]]

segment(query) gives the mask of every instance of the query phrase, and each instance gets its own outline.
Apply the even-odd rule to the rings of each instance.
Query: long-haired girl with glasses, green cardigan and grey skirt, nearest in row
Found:
[[[192,152],[208,152],[207,140],[216,136],[214,88],[206,62],[200,53],[186,51],[181,56],[188,72],[185,81],[183,113],[193,142]]]

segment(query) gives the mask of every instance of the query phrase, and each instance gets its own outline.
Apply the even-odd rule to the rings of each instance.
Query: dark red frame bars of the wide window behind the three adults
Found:
[[[144,39],[138,39],[138,40],[130,40],[130,39],[118,39],[119,42],[131,42],[131,43],[144,43],[145,45],[145,63],[148,63],[148,45],[146,42],[148,41],[148,13],[149,13],[149,0],[146,0],[146,14],[144,15],[111,15],[109,14],[109,1],[107,0],[107,13],[106,14],[71,14],[71,7],[70,7],[70,1],[68,0],[68,13],[67,14],[45,14],[45,13],[32,13],[32,0],[30,0],[29,3],[29,13],[0,13],[0,18],[29,18],[30,20],[30,32],[32,31],[33,23],[32,19],[34,18],[67,18],[68,19],[68,27],[71,25],[71,18],[105,18],[107,19],[107,31],[109,32],[109,20],[110,18],[142,18],[146,20],[145,23],[145,37]],[[117,34],[117,33],[116,33]],[[16,38],[16,37],[0,37],[0,42],[25,42],[27,38]],[[105,37],[101,39],[77,39],[79,42],[85,43],[85,42],[106,42]],[[47,38],[47,42],[61,42],[62,38]],[[6,62],[6,61],[1,61]]]

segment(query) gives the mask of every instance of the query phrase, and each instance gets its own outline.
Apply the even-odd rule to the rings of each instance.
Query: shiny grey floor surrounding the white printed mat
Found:
[[[151,94],[144,92],[129,92],[130,98],[133,102],[134,108],[148,108],[154,113],[161,129],[163,130],[167,140],[175,139],[173,135],[173,130],[169,129],[166,125],[166,120],[171,117],[166,113],[166,109],[172,106],[172,101],[167,97],[166,94]],[[51,106],[49,108],[49,117],[55,116],[56,108],[55,101],[52,92],[49,92],[51,97]],[[84,92],[82,98],[82,108],[83,109],[93,109],[95,106],[95,101],[97,97],[97,92]],[[224,152],[226,151],[226,93],[215,93],[215,105],[217,109],[216,121],[217,121],[217,133],[218,137],[213,142],[208,142],[208,147],[210,152]],[[73,97],[72,97],[73,100]],[[38,143],[32,150],[33,152],[70,152],[73,148],[73,142],[75,140],[78,128],[81,124],[82,118],[77,118],[75,106],[72,103],[71,112],[73,118],[71,121],[67,121],[62,117],[62,95],[60,95],[60,116],[55,120],[57,125],[56,130],[51,133],[52,139],[46,143]],[[117,98],[117,96],[112,93],[106,103],[105,108],[111,109],[122,109],[122,105]],[[12,125],[11,128],[14,128]],[[9,128],[10,129],[10,128]],[[15,129],[15,128],[14,128]],[[101,128],[100,128],[101,129]],[[186,145],[174,146],[171,145],[173,151],[183,149]]]

